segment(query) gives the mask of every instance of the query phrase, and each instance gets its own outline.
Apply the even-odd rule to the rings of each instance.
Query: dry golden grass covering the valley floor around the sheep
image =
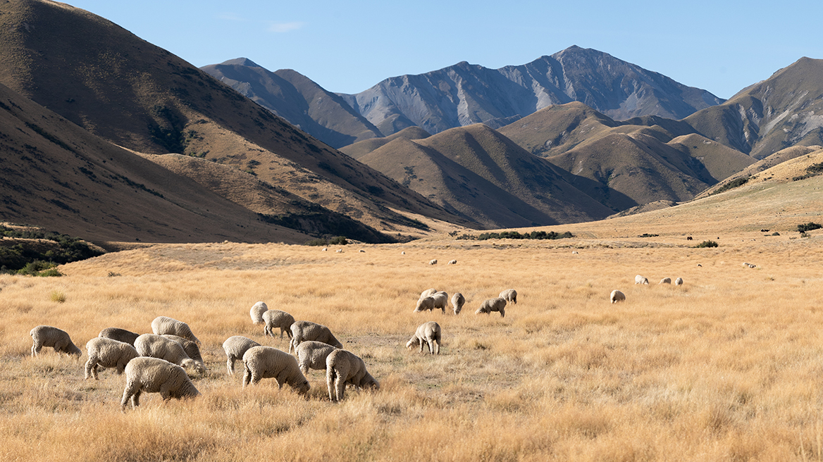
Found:
[[[63,278],[2,276],[0,460],[820,460],[823,233],[751,237],[158,245]],[[430,287],[462,292],[463,313],[412,313]],[[508,288],[506,317],[473,314]],[[242,390],[223,340],[287,349],[251,324],[258,300],[329,326],[381,389],[332,404],[313,371],[308,399],[272,380]],[[124,377],[83,380],[85,354],[30,358],[33,326],[85,350],[105,327],[147,332],[158,315],[203,341],[196,400],[146,395],[121,413]],[[436,357],[404,348],[429,320],[444,332]]]

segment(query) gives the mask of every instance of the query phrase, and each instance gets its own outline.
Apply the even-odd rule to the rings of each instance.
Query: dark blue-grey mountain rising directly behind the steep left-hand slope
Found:
[[[247,58],[201,69],[328,146],[383,136],[340,96],[291,69],[271,72]]]

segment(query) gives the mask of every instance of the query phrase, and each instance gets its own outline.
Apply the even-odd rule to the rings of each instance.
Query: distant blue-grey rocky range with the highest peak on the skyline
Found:
[[[570,47],[522,66],[489,69],[459,62],[388,78],[341,95],[384,135],[417,126],[435,134],[483,122],[502,127],[552,104],[579,101],[610,118],[685,118],[723,102],[607,53]]]

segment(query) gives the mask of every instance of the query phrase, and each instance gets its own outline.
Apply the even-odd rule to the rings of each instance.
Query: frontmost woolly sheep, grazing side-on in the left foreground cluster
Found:
[[[120,409],[123,411],[129,400],[132,401],[132,409],[139,406],[140,395],[144,391],[160,393],[164,401],[200,395],[183,367],[160,358],[134,358],[126,364],[125,372],[126,388],[123,389],[123,400],[120,401]]]

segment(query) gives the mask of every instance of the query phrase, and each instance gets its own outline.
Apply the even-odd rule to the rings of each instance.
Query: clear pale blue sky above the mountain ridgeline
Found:
[[[525,64],[578,45],[728,99],[803,56],[823,58],[820,0],[67,3],[197,67],[249,58],[338,93],[461,61]]]

